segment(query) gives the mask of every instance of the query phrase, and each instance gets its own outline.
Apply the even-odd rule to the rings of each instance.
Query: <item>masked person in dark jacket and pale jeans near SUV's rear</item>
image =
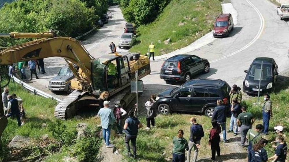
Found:
[[[230,129],[227,131],[228,133],[229,132],[234,132],[234,136],[237,136],[237,134],[238,134],[237,118],[238,118],[238,115],[240,113],[242,113],[241,105],[238,102],[238,99],[234,98],[233,102],[232,102],[232,105],[231,105],[231,114],[232,114],[232,116],[231,116],[231,121],[230,121]],[[235,127],[235,129],[233,131],[234,127]]]

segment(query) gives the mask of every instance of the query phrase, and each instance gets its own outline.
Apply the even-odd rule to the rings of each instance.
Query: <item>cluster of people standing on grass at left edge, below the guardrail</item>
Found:
[[[2,102],[4,115],[8,117],[13,117],[17,119],[18,126],[25,124],[26,115],[23,106],[23,100],[18,98],[16,94],[9,94],[9,88],[5,87],[2,93]]]

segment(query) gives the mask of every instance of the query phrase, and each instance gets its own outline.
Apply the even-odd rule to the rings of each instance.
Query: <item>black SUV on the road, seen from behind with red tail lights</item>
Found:
[[[165,81],[189,81],[192,76],[208,73],[208,60],[195,55],[176,55],[168,58],[162,65],[160,78]]]

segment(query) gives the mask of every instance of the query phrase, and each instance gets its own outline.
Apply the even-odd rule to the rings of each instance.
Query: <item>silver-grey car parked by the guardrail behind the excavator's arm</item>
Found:
[[[49,81],[48,89],[51,92],[64,91],[71,93],[70,81],[75,78],[68,66],[60,68],[58,74]]]

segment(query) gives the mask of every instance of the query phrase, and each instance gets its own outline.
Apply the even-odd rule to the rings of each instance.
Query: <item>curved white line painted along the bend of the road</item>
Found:
[[[245,0],[245,1],[247,1],[249,3],[249,5],[251,5],[255,9],[255,11],[257,12],[257,14],[258,14],[258,16],[260,18],[260,28],[259,28],[259,31],[258,31],[257,35],[255,36],[254,39],[252,39],[251,42],[249,42],[244,47],[238,49],[237,51],[235,51],[235,52],[233,52],[233,53],[231,53],[229,55],[226,55],[224,57],[212,60],[212,61],[210,61],[210,63],[216,62],[216,61],[220,61],[220,60],[223,60],[223,59],[228,58],[230,56],[233,56],[235,54],[238,54],[239,52],[243,51],[244,49],[247,49],[248,47],[250,47],[253,43],[255,43],[255,41],[257,41],[260,38],[260,36],[261,36],[261,34],[262,34],[263,30],[264,30],[264,26],[265,26],[264,25],[264,22],[265,22],[264,17],[262,16],[261,12],[257,9],[257,7],[255,5],[253,5],[253,3],[251,3],[249,0]]]

